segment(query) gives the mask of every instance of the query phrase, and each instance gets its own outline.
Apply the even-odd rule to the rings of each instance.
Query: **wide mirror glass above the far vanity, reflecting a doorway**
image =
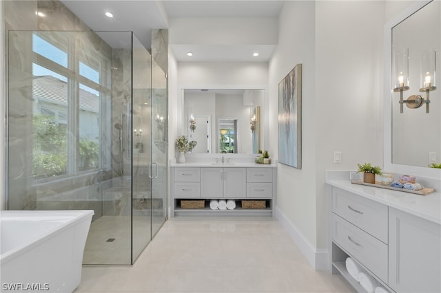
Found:
[[[192,153],[257,153],[265,140],[264,89],[184,89],[183,129]]]

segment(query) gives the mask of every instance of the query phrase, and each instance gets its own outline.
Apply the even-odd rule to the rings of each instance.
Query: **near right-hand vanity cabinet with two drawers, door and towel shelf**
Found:
[[[424,212],[414,215],[415,208],[406,206],[433,199],[434,208],[439,208],[439,194],[424,198],[365,186],[353,188],[355,193],[351,188],[350,183],[345,189],[327,187],[332,272],[342,274],[358,292],[366,292],[346,270],[345,260],[351,257],[389,292],[441,292],[439,215],[430,221],[419,216]]]

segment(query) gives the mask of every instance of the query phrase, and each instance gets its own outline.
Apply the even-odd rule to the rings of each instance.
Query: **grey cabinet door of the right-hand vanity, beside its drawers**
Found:
[[[441,226],[389,207],[389,286],[441,292]]]

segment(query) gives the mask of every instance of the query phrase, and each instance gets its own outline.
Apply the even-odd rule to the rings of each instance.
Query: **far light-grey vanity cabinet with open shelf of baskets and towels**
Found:
[[[176,215],[272,215],[276,203],[275,166],[172,166],[170,217]],[[232,210],[212,210],[211,199],[234,199]],[[205,208],[181,208],[182,201],[203,200]],[[243,208],[243,200],[265,201],[265,208]]]

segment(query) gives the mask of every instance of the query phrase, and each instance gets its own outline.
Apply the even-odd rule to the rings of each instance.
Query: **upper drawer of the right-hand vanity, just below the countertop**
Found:
[[[387,243],[387,206],[340,188],[333,188],[332,212]]]

